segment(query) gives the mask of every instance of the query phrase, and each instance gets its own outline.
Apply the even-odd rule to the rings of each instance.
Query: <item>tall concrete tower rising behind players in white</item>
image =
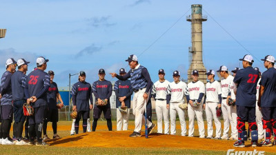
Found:
[[[192,23],[192,47],[189,48],[188,82],[192,81],[192,71],[198,70],[199,80],[206,83],[206,68],[202,61],[202,21],[207,21],[207,17],[202,16],[201,8],[200,4],[192,5],[192,15],[186,17],[186,20]]]

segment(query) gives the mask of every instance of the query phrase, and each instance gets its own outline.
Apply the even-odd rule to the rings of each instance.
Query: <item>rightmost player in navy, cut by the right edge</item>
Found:
[[[262,74],[262,79],[259,82],[259,99],[258,105],[262,107],[263,125],[266,132],[266,140],[262,146],[272,146],[270,141],[272,130],[276,133],[276,69],[275,57],[267,55],[264,59],[264,67],[267,68]]]

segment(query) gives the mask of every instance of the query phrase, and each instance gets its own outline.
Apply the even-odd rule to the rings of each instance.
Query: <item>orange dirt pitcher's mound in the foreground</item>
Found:
[[[143,133],[141,137],[129,137],[131,131],[124,132],[90,132],[75,136],[66,136],[57,141],[49,141],[55,147],[166,147],[181,149],[204,149],[221,150],[228,149],[253,151],[254,149],[266,152],[276,152],[273,147],[250,147],[250,142],[246,143],[245,148],[233,147],[233,141],[214,140],[207,138],[172,136],[164,134],[152,134],[145,138]]]

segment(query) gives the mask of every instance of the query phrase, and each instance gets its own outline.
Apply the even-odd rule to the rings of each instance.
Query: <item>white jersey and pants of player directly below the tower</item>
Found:
[[[197,100],[199,99],[199,94],[203,93],[205,94],[205,86],[204,83],[201,81],[197,82],[190,82],[188,83],[188,94],[190,96],[190,100]],[[194,130],[195,130],[195,116],[197,116],[197,124],[199,126],[199,137],[205,136],[205,130],[204,130],[204,121],[203,121],[203,110],[202,105],[199,105],[198,107],[193,107],[190,104],[188,104],[188,117],[189,117],[189,135],[188,136],[194,136]]]

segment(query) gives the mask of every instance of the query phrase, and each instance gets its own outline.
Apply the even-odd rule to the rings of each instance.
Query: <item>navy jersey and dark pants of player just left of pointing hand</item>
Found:
[[[110,81],[95,81],[92,85],[92,92],[95,96],[96,101],[98,99],[104,100],[108,99],[108,103],[105,106],[94,106],[94,118],[100,118],[101,112],[103,112],[104,118],[111,118],[111,110],[110,110],[110,96],[112,94],[112,84]]]

